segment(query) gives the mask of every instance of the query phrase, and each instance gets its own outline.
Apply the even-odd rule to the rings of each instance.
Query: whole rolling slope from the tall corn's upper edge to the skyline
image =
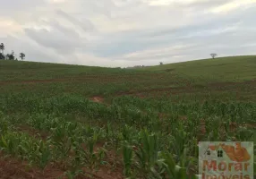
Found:
[[[151,93],[156,91],[168,93],[170,88],[180,88],[178,93],[183,96],[197,92],[199,97],[211,91],[222,96],[226,93],[235,96],[239,92],[243,98],[256,98],[253,94],[256,56],[196,60],[142,69],[1,60],[0,69],[0,92],[24,94],[27,91],[30,94],[33,91],[39,96],[75,93],[84,97],[113,97],[131,91],[152,96]],[[222,90],[218,90],[215,83],[221,83]],[[244,88],[248,90],[245,92]],[[194,92],[189,92],[192,89]],[[175,93],[174,89],[171,91]]]

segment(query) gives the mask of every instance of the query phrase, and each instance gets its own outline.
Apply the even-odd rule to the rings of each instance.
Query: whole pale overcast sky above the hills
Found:
[[[28,61],[123,67],[256,54],[256,0],[0,4],[0,43]]]

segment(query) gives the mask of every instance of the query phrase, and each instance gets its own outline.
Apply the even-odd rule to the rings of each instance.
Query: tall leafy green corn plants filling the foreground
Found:
[[[77,96],[4,96],[0,103],[1,150],[42,169],[57,164],[70,177],[86,174],[84,167],[113,165],[114,150],[127,177],[187,178],[197,174],[198,141],[255,142],[248,125],[253,103],[122,97],[107,106]],[[47,139],[19,131],[20,125],[46,132]]]

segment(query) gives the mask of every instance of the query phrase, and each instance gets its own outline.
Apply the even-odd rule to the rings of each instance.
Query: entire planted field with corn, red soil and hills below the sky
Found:
[[[199,141],[256,142],[255,69],[0,61],[0,178],[196,178]]]

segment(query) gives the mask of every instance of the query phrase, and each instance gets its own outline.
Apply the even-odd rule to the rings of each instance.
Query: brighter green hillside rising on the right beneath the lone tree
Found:
[[[190,62],[146,67],[147,71],[162,71],[192,77],[197,81],[243,81],[256,79],[256,56],[229,56]]]

